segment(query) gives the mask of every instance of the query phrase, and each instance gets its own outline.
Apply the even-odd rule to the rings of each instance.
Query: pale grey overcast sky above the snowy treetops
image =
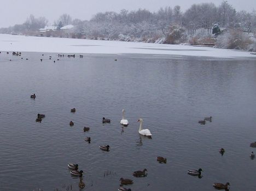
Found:
[[[180,5],[182,11],[192,4],[213,2],[219,5],[222,0],[1,0],[0,27],[9,27],[26,21],[30,14],[35,17],[44,16],[53,23],[60,15],[67,13],[72,19],[89,20],[98,12],[115,11],[121,9],[137,10],[138,8],[158,11],[161,7]],[[237,11],[251,12],[256,9],[256,0],[229,0]]]

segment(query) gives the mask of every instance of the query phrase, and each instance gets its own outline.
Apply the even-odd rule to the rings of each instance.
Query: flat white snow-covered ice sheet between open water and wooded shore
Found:
[[[253,57],[256,59],[256,55],[251,55],[250,52],[216,49],[212,47],[69,38],[26,37],[10,34],[0,34],[0,51],[107,54],[146,53],[218,58]]]

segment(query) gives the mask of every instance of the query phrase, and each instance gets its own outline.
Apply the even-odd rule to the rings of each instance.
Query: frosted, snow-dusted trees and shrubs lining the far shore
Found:
[[[30,15],[21,25],[1,28],[0,33],[39,35],[38,29],[47,24],[48,20],[44,17],[36,19]],[[122,9],[119,13],[107,11],[97,13],[89,21],[72,20],[71,16],[63,14],[54,22],[58,29],[69,24],[74,25],[74,28],[68,31],[49,31],[45,35],[167,44],[218,44],[217,35],[221,32],[231,35],[232,30],[236,36],[245,35],[244,33],[255,35],[256,11],[236,11],[227,1],[223,1],[218,6],[213,3],[193,4],[184,13],[176,5],[173,8],[160,8],[154,13],[146,9]],[[219,33],[212,34],[214,27],[219,27]],[[248,36],[247,40],[249,39]],[[253,44],[253,41],[249,40],[248,43]]]

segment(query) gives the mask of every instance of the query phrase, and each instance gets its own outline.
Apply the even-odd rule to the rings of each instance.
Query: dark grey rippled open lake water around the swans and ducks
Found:
[[[84,190],[118,190],[121,177],[132,190],[214,190],[214,182],[255,189],[255,59],[2,52],[0,79],[0,190],[79,190],[71,162],[84,171]],[[152,139],[139,136],[138,118]],[[147,177],[132,176],[144,168]],[[199,168],[202,178],[187,174]]]

